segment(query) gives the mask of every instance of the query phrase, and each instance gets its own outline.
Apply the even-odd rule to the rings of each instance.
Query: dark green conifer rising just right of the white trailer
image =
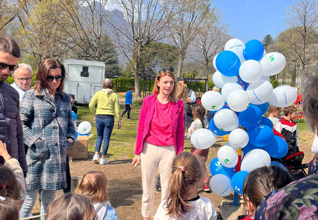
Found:
[[[107,35],[101,38],[101,61],[105,63],[105,77],[113,77],[119,73],[118,52],[112,41]]]

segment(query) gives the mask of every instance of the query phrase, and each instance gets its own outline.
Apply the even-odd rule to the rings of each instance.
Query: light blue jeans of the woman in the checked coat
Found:
[[[39,190],[26,191],[26,198],[20,210],[20,219],[29,217],[32,212]],[[47,212],[47,206],[55,200],[56,191],[42,190],[41,192],[41,215]],[[44,220],[45,217],[41,217]]]

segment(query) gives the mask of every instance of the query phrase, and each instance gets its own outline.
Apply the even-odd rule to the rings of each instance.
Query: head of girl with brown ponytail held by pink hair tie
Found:
[[[186,201],[187,195],[190,190],[196,192],[202,176],[202,164],[195,155],[182,152],[173,160],[169,182],[170,195],[166,201],[169,216],[178,219],[189,211],[190,204]]]

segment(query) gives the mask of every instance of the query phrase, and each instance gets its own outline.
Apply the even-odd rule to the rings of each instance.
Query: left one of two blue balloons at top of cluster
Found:
[[[241,62],[232,51],[224,50],[216,57],[216,68],[225,76],[236,76],[239,73]]]

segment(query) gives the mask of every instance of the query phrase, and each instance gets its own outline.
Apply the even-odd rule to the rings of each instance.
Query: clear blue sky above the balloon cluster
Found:
[[[229,35],[244,43],[249,40],[262,41],[270,34],[275,38],[284,28],[289,0],[214,0],[225,13],[229,24]]]

